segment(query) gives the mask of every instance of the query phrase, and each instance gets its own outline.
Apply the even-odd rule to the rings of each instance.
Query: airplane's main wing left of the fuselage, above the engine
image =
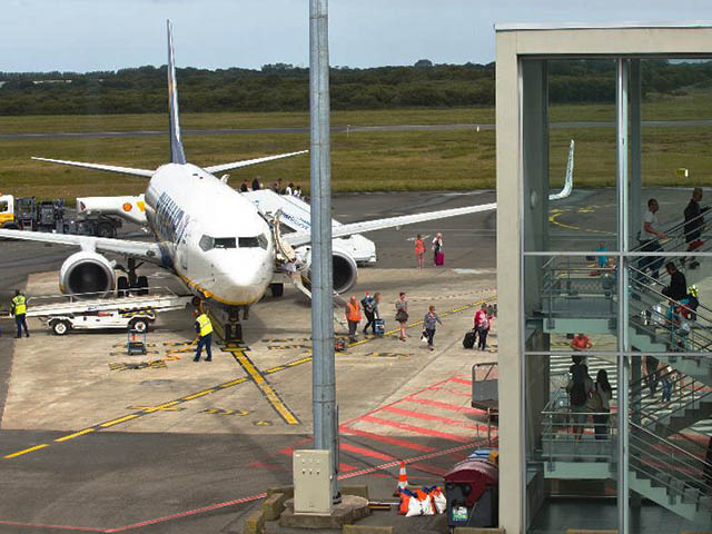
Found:
[[[160,264],[162,258],[160,247],[157,243],[4,229],[0,229],[0,237],[4,237],[7,239],[21,239],[24,241],[49,243],[52,245],[69,245],[81,247],[82,250],[89,251],[116,253],[134,258],[140,258],[154,264]]]

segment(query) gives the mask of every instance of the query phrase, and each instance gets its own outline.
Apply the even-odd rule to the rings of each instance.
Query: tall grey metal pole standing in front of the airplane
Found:
[[[338,412],[334,362],[327,0],[309,0],[309,105],[314,447],[332,452],[332,496],[337,502]]]

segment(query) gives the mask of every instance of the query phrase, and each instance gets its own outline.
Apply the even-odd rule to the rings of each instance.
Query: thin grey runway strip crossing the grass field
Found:
[[[712,120],[644,120],[643,128],[690,128],[701,126],[712,126]],[[570,121],[552,122],[552,129],[581,129],[581,128],[614,128],[613,121]],[[449,125],[349,125],[333,126],[334,134],[358,134],[368,131],[448,131],[448,130],[494,130],[493,123],[449,123]],[[233,135],[255,135],[255,134],[307,134],[308,127],[290,128],[205,128],[205,129],[182,129],[184,136],[233,136]],[[27,132],[27,134],[0,134],[0,140],[19,139],[96,139],[96,138],[125,138],[125,137],[166,137],[165,130],[127,130],[127,131],[76,131],[76,132]]]

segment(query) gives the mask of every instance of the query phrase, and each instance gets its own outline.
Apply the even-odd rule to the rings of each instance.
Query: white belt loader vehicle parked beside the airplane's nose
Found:
[[[182,309],[192,298],[166,289],[122,298],[101,298],[100,294],[29,297],[27,316],[40,318],[58,336],[70,330],[103,328],[146,332],[157,314]]]

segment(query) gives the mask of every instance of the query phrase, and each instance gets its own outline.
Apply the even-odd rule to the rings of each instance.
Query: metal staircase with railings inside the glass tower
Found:
[[[712,218],[712,212],[703,217]],[[683,231],[683,224],[666,231],[665,250],[686,250]],[[712,250],[712,240],[704,243],[710,245],[698,251]],[[712,277],[712,265],[708,264],[712,263],[701,261],[700,268],[685,271],[688,285],[706,284],[705,278]],[[592,276],[592,270],[577,258],[557,257],[545,263],[542,306],[528,319],[536,325],[530,326],[550,334],[586,332],[617,336],[617,271],[597,269]],[[654,376],[656,387],[651,385],[650,377],[642,376],[627,392],[630,487],[682,517],[710,525],[712,465],[706,463],[705,453],[712,436],[712,309],[700,305],[694,316],[685,318],[682,312],[688,303],[670,300],[662,293],[670,284],[664,269],[657,279],[635,267],[629,274],[631,346],[642,354],[654,355],[664,365]],[[571,364],[570,353],[551,356],[552,366],[556,359],[562,360],[562,369]],[[607,368],[615,383],[613,358],[592,355],[589,367]],[[663,383],[672,390],[669,400],[662,399]],[[568,395],[560,380],[542,412],[540,453],[544,476],[615,479],[615,407],[612,412],[610,434],[596,439],[595,426],[587,422],[583,436],[575,436],[571,432]]]

